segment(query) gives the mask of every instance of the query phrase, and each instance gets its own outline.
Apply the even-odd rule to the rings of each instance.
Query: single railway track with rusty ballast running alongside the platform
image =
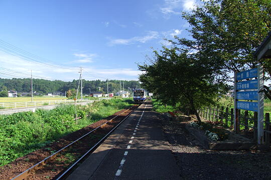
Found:
[[[19,179],[65,179],[139,105],[132,106],[15,176]]]

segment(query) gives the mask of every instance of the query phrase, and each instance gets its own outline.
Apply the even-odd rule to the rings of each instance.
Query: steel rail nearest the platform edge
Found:
[[[139,106],[138,106],[139,107]],[[137,108],[138,108],[137,107]],[[92,146],[85,154],[83,154],[78,160],[76,160],[65,172],[63,172],[60,176],[56,178],[56,180],[64,179],[67,174],[82,160],[84,159],[89,152],[94,151],[126,118],[130,116],[130,114],[135,111],[137,108],[133,109],[124,119],[122,119],[113,129],[111,129],[102,139],[100,139],[94,146]],[[110,120],[111,121],[111,120]],[[109,122],[109,121],[107,121]],[[107,123],[106,122],[106,123]]]

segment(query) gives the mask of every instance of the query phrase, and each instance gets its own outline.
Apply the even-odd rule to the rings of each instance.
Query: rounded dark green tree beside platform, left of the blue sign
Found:
[[[177,46],[154,53],[150,64],[139,65],[144,72],[139,77],[142,85],[165,104],[196,114],[201,122],[197,109],[215,103],[227,86],[216,81],[211,67],[205,67],[197,53]]]

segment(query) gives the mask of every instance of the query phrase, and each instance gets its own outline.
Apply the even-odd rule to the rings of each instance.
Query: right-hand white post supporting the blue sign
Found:
[[[258,144],[263,142],[263,98],[264,94],[260,90],[263,89],[263,68],[262,65],[257,65],[257,79],[258,79]]]

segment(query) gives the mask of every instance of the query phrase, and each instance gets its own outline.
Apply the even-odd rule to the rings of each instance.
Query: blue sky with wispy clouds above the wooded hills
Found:
[[[32,69],[33,75],[68,81],[79,78],[82,66],[84,79],[136,80],[137,63],[152,55],[151,47],[161,48],[164,37],[187,37],[181,12],[194,4],[195,0],[0,0],[0,67],[6,68],[0,69],[0,77],[20,76],[7,69],[27,74]],[[53,66],[10,54],[15,47],[6,42]]]

